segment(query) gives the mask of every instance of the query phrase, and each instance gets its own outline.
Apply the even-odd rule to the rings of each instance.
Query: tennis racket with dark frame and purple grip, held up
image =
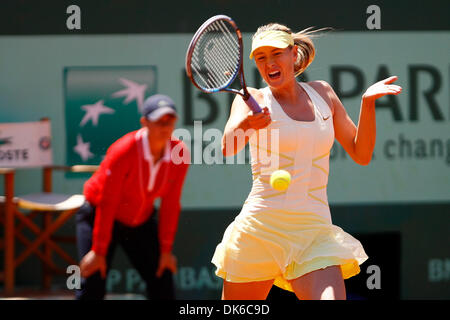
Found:
[[[239,94],[250,109],[258,113],[261,107],[245,84],[242,48],[242,35],[236,23],[224,15],[214,16],[200,26],[189,44],[186,73],[203,92],[227,91]],[[238,75],[241,91],[229,88]]]

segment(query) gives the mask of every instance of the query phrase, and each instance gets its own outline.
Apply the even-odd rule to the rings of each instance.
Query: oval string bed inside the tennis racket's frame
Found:
[[[239,39],[233,26],[217,20],[200,35],[190,65],[193,79],[200,87],[218,89],[234,79],[239,63]]]

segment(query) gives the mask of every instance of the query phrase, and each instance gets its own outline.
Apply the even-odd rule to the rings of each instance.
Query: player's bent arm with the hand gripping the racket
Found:
[[[248,88],[248,91],[259,105],[264,103],[261,91],[254,88]],[[253,113],[242,97],[236,95],[222,136],[223,155],[227,157],[239,153],[248,143],[253,132],[267,127],[271,121],[267,107],[263,108],[263,112]]]

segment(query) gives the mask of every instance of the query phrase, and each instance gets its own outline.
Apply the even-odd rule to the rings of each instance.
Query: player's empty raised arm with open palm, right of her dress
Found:
[[[376,140],[375,100],[387,94],[400,94],[402,88],[393,85],[393,76],[370,86],[362,96],[358,126],[352,121],[333,88],[321,81],[333,112],[335,138],[350,157],[360,165],[368,165],[372,159]]]

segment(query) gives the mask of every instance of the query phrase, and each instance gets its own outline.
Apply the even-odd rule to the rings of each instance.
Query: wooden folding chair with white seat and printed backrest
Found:
[[[52,173],[54,170],[92,173],[98,168],[98,166],[92,165],[52,165],[50,121],[48,119],[15,125],[18,128],[22,127],[20,130],[25,131],[27,127],[30,127],[30,138],[37,138],[37,131],[42,132],[42,136],[39,138],[39,144],[43,144],[44,148],[41,148],[42,146],[34,148],[42,149],[37,151],[34,149],[22,149],[28,150],[26,157],[28,163],[22,163],[26,161],[21,162],[19,159],[16,163],[8,161],[6,163],[8,168],[0,168],[0,176],[4,176],[5,194],[4,196],[0,196],[0,205],[3,208],[3,210],[0,208],[0,224],[4,225],[3,239],[0,239],[0,249],[4,250],[4,268],[3,271],[0,271],[0,280],[4,282],[5,294],[7,296],[14,293],[16,268],[32,254],[35,254],[42,261],[44,289],[50,288],[53,275],[66,274],[67,265],[78,264],[76,259],[71,257],[58,245],[60,242],[75,242],[75,237],[58,237],[55,235],[55,232],[74,216],[76,211],[84,203],[84,196],[81,194],[66,195],[53,193]],[[39,127],[39,130],[36,127]],[[2,140],[7,140],[7,144],[12,144],[10,140],[11,138],[15,138],[13,135],[6,138],[2,137],[1,128],[0,124],[0,152],[2,150]],[[23,133],[19,135],[21,134]],[[20,140],[20,138],[16,140]],[[35,155],[35,153],[40,153],[41,151],[43,151],[43,154],[39,156]],[[4,165],[5,163],[0,161],[0,167]],[[42,192],[15,196],[14,184],[16,170],[28,167],[42,167]],[[38,217],[42,217],[42,227],[34,221]],[[36,236],[34,240],[29,240],[24,235],[23,231],[25,228],[29,229]],[[24,246],[24,250],[19,254],[16,254],[16,240]],[[43,247],[42,250],[41,247]],[[57,266],[52,257],[53,253],[58,254],[67,265],[63,267]]]

